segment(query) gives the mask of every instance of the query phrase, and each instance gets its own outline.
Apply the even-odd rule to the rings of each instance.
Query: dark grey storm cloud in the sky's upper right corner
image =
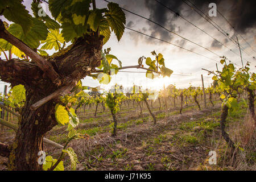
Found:
[[[168,29],[174,31],[176,25],[174,24],[174,19],[178,16],[168,10],[166,7],[160,5],[156,1],[152,0],[144,0],[145,5],[150,11],[150,19],[155,22],[167,27]],[[170,9],[174,10],[176,13],[185,16],[185,18],[196,20],[198,18],[202,18],[196,11],[193,11],[191,7],[189,7],[186,3],[180,0],[158,0],[160,3],[163,3]],[[231,23],[236,31],[245,33],[247,28],[255,28],[256,27],[256,1],[255,0],[186,0],[189,5],[193,7],[195,5],[201,12],[208,15],[209,12],[209,3],[214,2],[217,5],[217,10],[228,19],[229,23]],[[191,3],[190,3],[191,2]],[[182,11],[182,13],[181,13]],[[200,11],[199,11],[200,12]],[[228,23],[222,18],[220,14],[217,13],[217,17],[212,17],[213,20],[223,20],[224,25]],[[192,21],[193,23],[196,23]],[[160,35],[160,38],[171,40],[172,35],[167,34],[166,30],[148,22],[151,27],[152,35]],[[221,25],[218,24],[220,27]],[[208,24],[208,26],[211,26]],[[223,27],[222,27],[223,28]],[[230,27],[231,28],[231,27]],[[180,28],[176,28],[176,32],[181,32]],[[220,29],[220,28],[219,28]],[[225,28],[224,28],[225,29]]]

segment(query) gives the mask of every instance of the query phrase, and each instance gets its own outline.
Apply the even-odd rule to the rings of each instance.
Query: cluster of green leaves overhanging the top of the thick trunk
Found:
[[[120,40],[125,29],[125,14],[117,3],[110,2],[108,9],[90,10],[90,0],[63,1],[50,0],[49,10],[53,18],[61,23],[61,32],[66,42],[73,42],[76,38],[92,31],[99,31],[105,36],[104,44],[110,38],[110,28]],[[105,14],[105,15],[104,15]]]

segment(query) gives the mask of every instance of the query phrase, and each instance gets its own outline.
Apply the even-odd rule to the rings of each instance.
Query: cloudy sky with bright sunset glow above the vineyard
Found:
[[[31,9],[29,5],[31,1],[32,0],[23,1],[27,10],[30,12]],[[243,64],[250,61],[251,72],[255,72],[256,60],[253,57],[256,57],[256,1],[158,1],[162,3],[162,5],[155,0],[112,0],[112,2],[118,3],[119,6],[124,9],[148,18],[187,40],[164,30],[164,28],[149,20],[124,11],[126,15],[126,27],[176,44],[177,46],[189,49],[203,56],[175,47],[160,40],[149,38],[128,29],[125,29],[125,33],[119,42],[112,33],[108,43],[106,43],[103,48],[111,47],[112,51],[110,51],[110,53],[117,56],[118,59],[122,61],[122,66],[138,65],[138,58],[141,56],[151,57],[151,59],[153,59],[154,56],[151,55],[151,52],[155,50],[156,53],[162,53],[166,67],[172,69],[174,73],[170,78],[165,77],[150,80],[146,78],[146,73],[141,73],[145,72],[142,69],[127,69],[125,71],[129,72],[118,72],[117,75],[112,76],[112,80],[108,85],[101,85],[101,88],[108,89],[110,86],[114,85],[115,82],[123,86],[132,86],[133,84],[136,84],[141,85],[142,88],[158,90],[162,89],[164,85],[168,86],[169,84],[174,84],[177,88],[186,88],[189,85],[202,86],[201,75],[204,76],[204,84],[205,87],[207,87],[212,83],[212,76],[209,76],[206,71],[202,70],[202,68],[214,71],[216,70],[216,63],[218,64],[218,68],[221,68],[221,64],[219,63],[220,57],[218,56],[226,56],[232,63],[236,64],[236,67],[241,67],[240,50],[238,46],[233,43],[234,40],[237,39],[237,36],[242,49],[244,49],[244,51],[242,51]],[[195,10],[188,6],[191,5],[189,2],[192,2],[193,5],[206,15],[208,15],[209,10],[211,9],[208,7],[209,3],[216,3],[218,10],[217,16],[210,17],[210,19],[217,25],[212,23],[215,26],[214,27],[206,20],[208,18],[204,18],[205,15],[200,16],[197,14]],[[103,0],[96,0],[96,7],[99,9],[104,8],[107,5],[108,3]],[[172,13],[172,11],[163,5],[174,10],[177,14]],[[46,13],[50,15],[48,7]],[[224,15],[226,20],[228,20],[234,28],[230,26],[222,15]],[[191,23],[188,23],[181,18],[181,16],[201,28],[204,32],[207,32],[210,36],[199,30],[199,28],[193,26]],[[2,16],[0,16],[0,18],[3,19]],[[228,36],[225,36],[225,34],[228,34]],[[240,35],[242,35],[242,37]],[[233,42],[230,39],[232,39]],[[245,39],[247,43],[243,39]],[[194,42],[197,45],[191,42]],[[212,52],[198,45],[205,47]],[[230,51],[230,49],[232,49],[232,51]],[[53,51],[47,52],[50,55],[53,53]],[[204,56],[209,57],[209,59]],[[1,58],[5,59],[3,54],[1,55]],[[115,61],[114,63],[117,64]],[[97,80],[93,80],[93,78],[90,77],[84,78],[82,84],[92,87],[100,85]],[[5,85],[5,83],[0,81],[0,92],[3,90],[3,85]]]

